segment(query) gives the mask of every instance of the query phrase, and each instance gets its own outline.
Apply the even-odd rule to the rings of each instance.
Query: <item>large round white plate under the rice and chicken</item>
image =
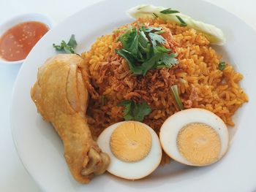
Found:
[[[30,88],[37,68],[55,55],[53,42],[75,34],[78,52],[113,28],[132,21],[126,10],[138,4],[173,7],[192,18],[211,23],[222,30],[227,43],[219,51],[244,74],[242,87],[249,103],[235,115],[236,134],[227,155],[212,166],[195,168],[172,162],[159,167],[143,180],[131,182],[104,174],[89,185],[75,182],[64,161],[63,147],[56,132],[37,114]],[[43,191],[253,191],[256,189],[256,33],[235,15],[205,1],[129,0],[102,1],[87,7],[53,28],[33,48],[20,69],[13,93],[12,134],[24,166]]]

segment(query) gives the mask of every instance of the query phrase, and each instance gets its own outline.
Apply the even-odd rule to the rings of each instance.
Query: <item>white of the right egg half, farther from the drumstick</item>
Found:
[[[165,153],[167,153],[167,155],[180,162],[181,164],[187,164],[191,166],[208,165],[192,164],[191,162],[187,161],[187,159],[184,158],[181,153],[179,153],[177,146],[178,131],[180,131],[181,128],[189,123],[205,123],[206,125],[214,128],[214,130],[217,131],[217,134],[219,134],[221,141],[221,150],[217,161],[222,158],[223,155],[225,155],[229,143],[227,126],[223,120],[213,112],[200,108],[192,108],[189,110],[176,112],[174,115],[171,115],[169,118],[167,118],[167,120],[165,120],[165,122],[162,124],[159,133],[159,139],[162,145],[162,149],[165,151]]]

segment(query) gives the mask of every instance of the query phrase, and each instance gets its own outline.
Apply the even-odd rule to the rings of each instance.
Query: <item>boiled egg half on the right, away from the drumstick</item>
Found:
[[[223,120],[199,108],[183,110],[167,118],[159,139],[170,158],[191,166],[215,163],[225,155],[229,143]]]

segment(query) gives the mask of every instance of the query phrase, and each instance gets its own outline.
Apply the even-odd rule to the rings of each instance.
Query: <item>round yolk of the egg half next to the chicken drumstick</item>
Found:
[[[112,153],[121,161],[136,162],[145,158],[151,150],[152,137],[140,123],[125,122],[110,137]]]

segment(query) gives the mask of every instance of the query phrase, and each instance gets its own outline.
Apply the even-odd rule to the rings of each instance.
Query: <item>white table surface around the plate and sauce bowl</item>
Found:
[[[50,16],[56,24],[89,4],[99,0],[0,0],[0,25],[15,15],[39,12]],[[192,1],[192,0],[188,0]],[[206,0],[233,12],[256,30],[255,0]],[[0,191],[40,191],[24,169],[10,130],[12,88],[20,65],[0,65]]]

